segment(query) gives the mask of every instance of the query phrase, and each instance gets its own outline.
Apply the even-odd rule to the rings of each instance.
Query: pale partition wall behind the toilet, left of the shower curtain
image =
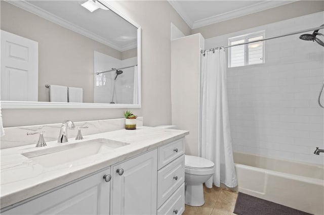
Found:
[[[201,34],[171,42],[172,125],[190,131],[185,137],[186,154],[195,156],[198,156],[199,142],[199,50],[205,48],[204,43],[205,39]]]

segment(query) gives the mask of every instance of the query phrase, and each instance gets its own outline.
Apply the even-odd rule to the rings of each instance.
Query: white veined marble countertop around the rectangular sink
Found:
[[[22,153],[41,150],[35,144],[6,149],[1,152],[1,208],[43,193],[80,177],[172,142],[189,134],[188,131],[139,127],[136,130],[117,130],[84,136],[83,140],[69,138],[67,143],[47,142],[47,148],[79,141],[106,138],[129,143],[106,152],[54,167],[44,167]]]

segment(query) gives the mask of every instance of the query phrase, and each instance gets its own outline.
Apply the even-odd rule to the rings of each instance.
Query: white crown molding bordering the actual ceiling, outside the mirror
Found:
[[[215,23],[218,23],[218,22],[223,22],[223,21],[234,19],[234,18],[237,18],[237,17],[257,13],[257,12],[264,11],[264,10],[267,10],[267,9],[270,9],[270,8],[275,8],[275,7],[279,7],[279,6],[282,6],[282,5],[290,4],[290,3],[293,3],[293,2],[296,2],[296,1],[299,1],[299,0],[263,1],[263,2],[259,2],[259,3],[256,3],[254,5],[248,6],[248,7],[244,7],[244,8],[241,8],[241,9],[229,11],[229,12],[219,14],[219,15],[216,15],[216,16],[208,17],[206,19],[192,21],[189,18],[188,14],[183,10],[181,5],[177,1],[168,0],[170,5],[178,12],[180,17],[187,23],[187,25],[189,25],[189,27],[191,29],[204,27],[204,26],[215,24]]]

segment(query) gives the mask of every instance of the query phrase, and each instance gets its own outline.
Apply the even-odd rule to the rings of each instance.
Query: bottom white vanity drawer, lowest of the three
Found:
[[[158,210],[157,215],[182,214],[184,211],[184,183]]]

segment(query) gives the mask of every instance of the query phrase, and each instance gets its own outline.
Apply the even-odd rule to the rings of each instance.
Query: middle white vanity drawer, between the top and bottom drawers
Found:
[[[184,182],[184,154],[157,172],[157,207]]]

